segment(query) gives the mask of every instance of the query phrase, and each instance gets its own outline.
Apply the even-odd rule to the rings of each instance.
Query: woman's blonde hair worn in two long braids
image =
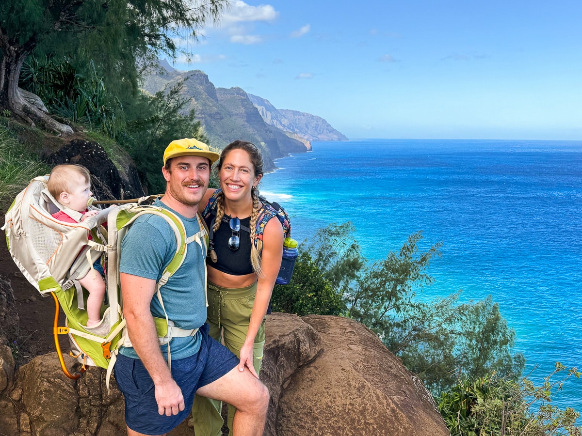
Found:
[[[230,142],[230,144],[222,150],[217,165],[218,171],[221,170],[222,164],[228,153],[237,149],[243,150],[249,155],[251,163],[253,163],[254,176],[262,176],[262,174],[264,174],[262,171],[264,163],[262,161],[261,151],[252,142],[247,141]],[[251,188],[251,199],[253,201],[253,212],[251,212],[251,221],[249,225],[251,238],[251,265],[253,266],[254,273],[257,274],[257,276],[262,277],[261,255],[259,254],[257,247],[254,244],[255,228],[257,227],[257,219],[259,210],[261,209],[261,201],[258,198],[258,190],[254,186]],[[222,217],[224,216],[224,194],[222,192],[217,196],[216,202],[217,217],[214,223],[213,231],[218,230],[222,221]]]

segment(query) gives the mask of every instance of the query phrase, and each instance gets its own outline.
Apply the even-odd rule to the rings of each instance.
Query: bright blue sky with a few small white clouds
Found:
[[[233,1],[201,34],[176,69],[350,139],[582,140],[581,0]]]

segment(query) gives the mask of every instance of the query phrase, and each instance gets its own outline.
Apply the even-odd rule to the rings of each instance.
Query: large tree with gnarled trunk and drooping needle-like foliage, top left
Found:
[[[141,73],[156,65],[159,55],[174,58],[179,38],[197,38],[228,5],[227,0],[0,2],[0,108],[69,133],[20,94],[20,69],[30,55],[91,59],[108,90],[123,99],[136,94]]]

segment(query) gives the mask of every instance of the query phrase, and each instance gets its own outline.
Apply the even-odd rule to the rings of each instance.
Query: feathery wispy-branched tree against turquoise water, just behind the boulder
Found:
[[[482,377],[491,371],[513,380],[519,377],[525,359],[521,353],[512,354],[515,333],[491,296],[460,303],[461,291],[444,298],[420,295],[434,281],[427,269],[432,259],[441,256],[440,242],[420,252],[422,233],[417,232],[398,252],[390,251],[370,263],[361,255],[353,233],[352,223],[334,223],[318,231],[313,241],[301,244],[296,269],[303,271],[304,263],[313,266],[307,276],[293,274],[288,286],[297,285],[299,294],[288,292],[286,298],[294,301],[286,303],[286,311],[318,313],[310,312],[318,304],[307,305],[304,299],[305,295],[317,298],[311,290],[325,280],[331,285],[331,294],[328,290],[325,295],[340,299],[335,310],[371,328],[433,392],[452,387],[459,378]],[[276,292],[274,298],[279,298]]]

